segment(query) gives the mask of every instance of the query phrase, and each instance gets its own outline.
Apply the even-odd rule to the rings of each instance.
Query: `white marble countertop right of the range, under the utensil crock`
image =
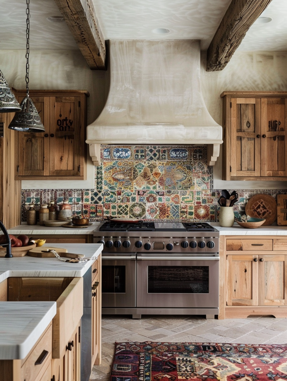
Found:
[[[266,225],[255,229],[246,229],[236,222],[232,227],[220,226],[218,222],[210,223],[220,235],[287,235],[287,226]]]

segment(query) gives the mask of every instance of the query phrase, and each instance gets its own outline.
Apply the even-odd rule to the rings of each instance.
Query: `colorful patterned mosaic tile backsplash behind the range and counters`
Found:
[[[30,203],[36,208],[68,199],[74,215],[90,221],[106,217],[156,221],[218,221],[213,167],[207,166],[207,146],[102,146],[95,167],[95,189],[22,190],[22,221]],[[233,189],[232,189],[233,190]],[[234,211],[244,211],[254,194],[276,198],[286,190],[237,190]]]

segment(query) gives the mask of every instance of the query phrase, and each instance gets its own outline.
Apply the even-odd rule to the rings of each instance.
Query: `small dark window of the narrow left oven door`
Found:
[[[125,266],[102,266],[102,293],[125,293]]]

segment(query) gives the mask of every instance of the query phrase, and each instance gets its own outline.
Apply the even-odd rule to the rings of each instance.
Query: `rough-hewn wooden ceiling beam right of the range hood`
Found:
[[[207,49],[206,71],[224,69],[247,30],[272,0],[232,0]]]

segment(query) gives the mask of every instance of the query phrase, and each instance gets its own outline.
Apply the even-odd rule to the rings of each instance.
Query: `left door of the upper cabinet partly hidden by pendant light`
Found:
[[[19,97],[21,102],[23,97]],[[16,176],[49,175],[49,97],[31,97],[45,127],[45,132],[18,132],[16,137]],[[17,145],[18,142],[18,145]]]

